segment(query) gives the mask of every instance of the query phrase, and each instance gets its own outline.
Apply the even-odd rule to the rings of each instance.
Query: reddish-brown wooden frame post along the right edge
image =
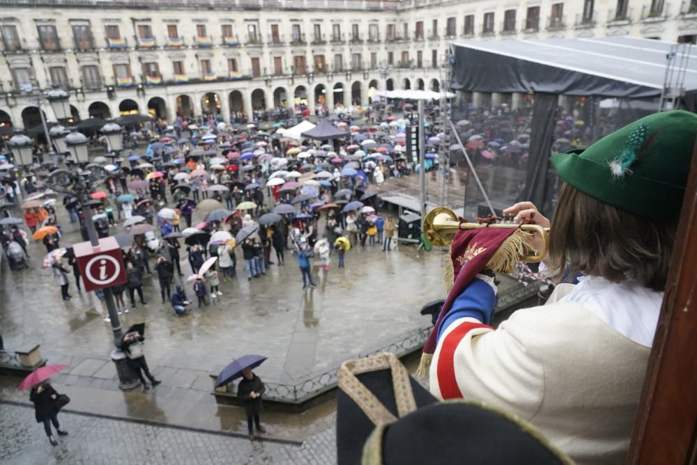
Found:
[[[697,463],[697,144],[626,464]]]

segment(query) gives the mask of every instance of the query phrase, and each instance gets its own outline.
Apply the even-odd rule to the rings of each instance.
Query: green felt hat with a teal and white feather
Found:
[[[697,115],[654,113],[585,150],[552,155],[559,175],[579,191],[657,221],[677,219],[697,136]]]

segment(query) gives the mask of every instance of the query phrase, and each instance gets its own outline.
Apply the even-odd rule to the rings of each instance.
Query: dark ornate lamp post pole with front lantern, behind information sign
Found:
[[[72,131],[65,136],[66,145],[74,159],[75,164],[72,164],[72,169],[56,170],[46,181],[48,187],[56,192],[64,195],[76,196],[79,204],[84,212],[84,224],[89,236],[90,243],[93,247],[99,246],[99,237],[97,230],[92,221],[92,212],[87,203],[87,196],[91,190],[91,186],[104,182],[107,178],[107,171],[98,164],[87,164],[89,157],[87,154],[87,143],[89,140],[77,131]],[[104,288],[105,302],[107,303],[107,311],[109,312],[109,320],[112,324],[112,332],[114,333],[114,346],[112,351],[112,361],[116,364],[116,373],[118,374],[119,384],[121,389],[132,389],[140,384],[139,379],[130,368],[128,368],[128,359],[121,352],[121,339],[123,331],[121,322],[118,320],[118,311],[114,302],[114,293],[111,287]]]

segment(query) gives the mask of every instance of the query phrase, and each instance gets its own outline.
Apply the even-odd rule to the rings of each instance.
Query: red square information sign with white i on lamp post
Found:
[[[112,287],[126,282],[126,267],[121,248],[114,237],[99,239],[99,246],[80,242],[72,246],[86,291]]]

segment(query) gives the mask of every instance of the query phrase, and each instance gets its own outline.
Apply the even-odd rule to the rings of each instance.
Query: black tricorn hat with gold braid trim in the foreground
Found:
[[[479,402],[438,402],[394,354],[339,369],[339,465],[573,464],[541,433]]]

